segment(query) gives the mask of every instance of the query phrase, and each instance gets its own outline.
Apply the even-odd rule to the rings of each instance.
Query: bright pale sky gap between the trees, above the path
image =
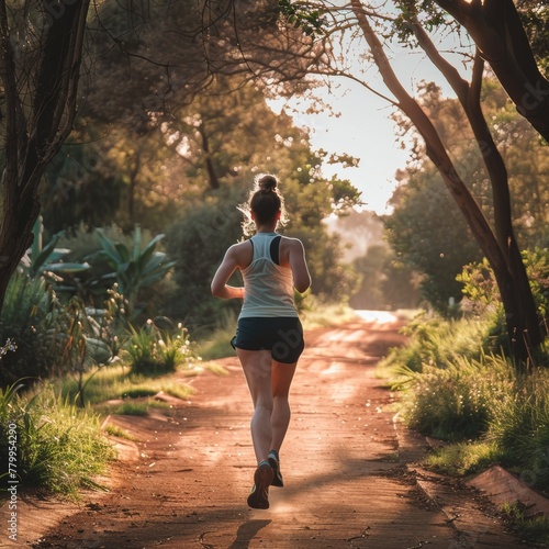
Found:
[[[422,80],[440,81],[440,76],[423,54],[410,49],[392,51],[391,63],[401,82],[408,92],[415,96],[417,85]],[[459,69],[459,65],[455,66]],[[377,69],[368,71],[368,83],[389,97],[391,94],[382,85]],[[446,96],[453,97],[448,87],[442,86]],[[318,93],[320,90],[316,90]],[[365,209],[378,214],[390,213],[390,200],[396,181],[395,171],[405,168],[410,152],[400,148],[395,141],[395,127],[391,120],[393,108],[362,86],[348,79],[336,80],[336,89],[323,90],[321,96],[339,115],[328,112],[306,114],[307,103],[292,99],[287,113],[293,116],[294,124],[310,130],[310,139],[314,149],[324,149],[328,154],[348,154],[360,158],[356,168],[343,168],[337,165],[325,165],[326,177],[337,175],[348,179],[361,191]],[[273,109],[279,110],[282,102],[276,102]],[[298,112],[293,112],[296,110]]]

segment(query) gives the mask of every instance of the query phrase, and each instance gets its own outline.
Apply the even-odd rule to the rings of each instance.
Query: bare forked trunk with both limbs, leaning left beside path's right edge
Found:
[[[463,213],[472,234],[494,270],[507,315],[509,340],[513,341],[513,349],[516,357],[526,359],[528,357],[528,348],[540,345],[545,330],[537,315],[526,269],[514,235],[506,169],[488,131],[480,105],[483,64],[477,55],[474,57],[471,82],[468,83],[433,47],[433,43],[419,25],[417,16],[412,13],[410,24],[413,25],[415,36],[456,91],[471,124],[474,137],[482,150],[483,160],[493,189],[493,227],[480,210],[463,179],[456,170],[435,125],[396,79],[382,45],[377,34],[373,33],[361,2],[354,0],[352,8],[358,19],[358,24],[376,59],[376,64],[380,69],[383,81],[391,92],[394,93],[400,109],[411,119],[425,139],[427,156],[439,170],[446,187]]]

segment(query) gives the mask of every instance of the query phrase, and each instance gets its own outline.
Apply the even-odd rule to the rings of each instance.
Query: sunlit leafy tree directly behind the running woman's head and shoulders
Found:
[[[232,99],[225,98],[222,105],[226,119],[222,113],[211,114],[219,110],[216,96],[203,97],[197,105],[184,109],[191,119],[195,112],[211,116],[211,160],[220,183],[216,189],[209,184],[208,169],[200,161],[204,154],[200,136],[194,139],[192,130],[179,119],[169,130],[189,144],[188,155],[195,166],[191,168],[192,178],[201,182],[202,192],[181,201],[168,233],[168,251],[178,261],[178,291],[166,305],[167,314],[203,326],[213,323],[221,309],[237,305],[212,302],[209,281],[226,248],[243,237],[243,215],[236,206],[247,201],[254,176],[260,171],[276,172],[281,180],[289,212],[288,225],[281,232],[288,231],[303,242],[314,294],[345,301],[355,277],[341,265],[339,242],[327,234],[323,220],[355,204],[357,189],[348,181],[322,176],[324,154],[311,149],[307,133],[295,127],[290,116],[269,110],[259,90],[244,86]]]

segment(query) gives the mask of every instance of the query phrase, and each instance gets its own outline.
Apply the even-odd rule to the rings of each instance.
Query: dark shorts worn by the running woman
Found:
[[[245,350],[270,350],[277,362],[292,365],[300,358],[305,341],[296,316],[239,318],[231,344]]]

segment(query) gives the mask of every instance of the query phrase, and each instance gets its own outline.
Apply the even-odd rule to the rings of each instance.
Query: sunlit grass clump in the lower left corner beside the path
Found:
[[[100,432],[99,417],[63,401],[51,388],[20,396],[22,388],[0,390],[2,462],[8,463],[8,435],[14,433],[16,473],[23,485],[71,495],[82,486],[100,488],[93,478],[115,452]]]

